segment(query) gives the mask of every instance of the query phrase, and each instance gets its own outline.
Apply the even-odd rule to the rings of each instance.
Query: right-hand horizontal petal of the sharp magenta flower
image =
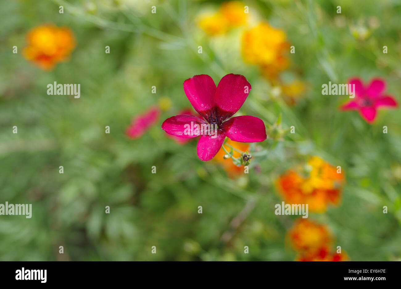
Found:
[[[223,123],[226,135],[238,142],[259,142],[267,138],[263,120],[255,116],[235,116]]]

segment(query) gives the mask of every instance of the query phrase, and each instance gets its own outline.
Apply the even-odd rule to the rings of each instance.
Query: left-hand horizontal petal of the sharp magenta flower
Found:
[[[206,124],[205,120],[193,115],[180,114],[167,118],[162,123],[162,129],[168,134],[179,136],[181,138],[192,138],[199,135],[199,130],[194,134],[193,124]]]

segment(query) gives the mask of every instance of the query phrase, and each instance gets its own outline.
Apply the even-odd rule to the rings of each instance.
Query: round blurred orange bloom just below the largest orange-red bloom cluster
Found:
[[[309,254],[315,254],[331,244],[330,232],[324,225],[302,218],[288,231],[288,237],[296,251]]]

